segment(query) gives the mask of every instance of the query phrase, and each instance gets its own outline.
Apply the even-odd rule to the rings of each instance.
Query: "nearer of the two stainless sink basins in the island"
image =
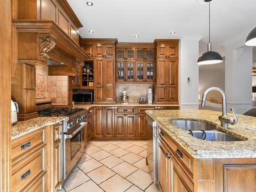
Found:
[[[191,133],[188,133],[191,135]],[[242,139],[233,137],[219,131],[194,131],[193,136],[206,141],[243,141]]]

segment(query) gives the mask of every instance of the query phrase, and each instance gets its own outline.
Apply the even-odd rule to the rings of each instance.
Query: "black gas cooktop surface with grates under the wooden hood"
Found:
[[[39,111],[38,115],[40,117],[53,117],[53,116],[70,116],[75,114],[76,112],[82,111],[82,108],[74,108],[74,109],[60,109],[53,108],[48,110]]]

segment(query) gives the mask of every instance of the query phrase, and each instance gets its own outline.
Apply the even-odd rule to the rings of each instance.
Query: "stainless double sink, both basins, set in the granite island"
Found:
[[[226,133],[217,131],[216,125],[194,120],[170,120],[170,123],[187,131],[193,137],[206,141],[243,141]]]

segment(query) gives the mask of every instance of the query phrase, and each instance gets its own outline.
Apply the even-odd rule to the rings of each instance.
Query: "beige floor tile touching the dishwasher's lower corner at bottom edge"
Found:
[[[145,190],[150,184],[152,184],[151,175],[147,174],[141,169],[136,170],[133,174],[126,177],[128,181]]]

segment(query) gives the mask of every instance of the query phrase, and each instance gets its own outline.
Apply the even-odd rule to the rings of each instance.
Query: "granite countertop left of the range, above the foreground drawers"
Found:
[[[37,117],[28,121],[18,121],[12,125],[11,139],[16,139],[32,131],[38,130],[43,126],[55,124],[64,119],[64,117]]]

